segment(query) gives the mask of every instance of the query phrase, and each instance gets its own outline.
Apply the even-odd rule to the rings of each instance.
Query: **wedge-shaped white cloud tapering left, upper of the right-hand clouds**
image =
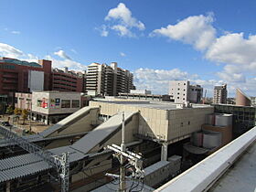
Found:
[[[188,16],[176,25],[155,29],[150,36],[169,37],[193,45],[199,50],[204,50],[215,40],[216,29],[211,26],[213,20],[212,14],[208,16]]]

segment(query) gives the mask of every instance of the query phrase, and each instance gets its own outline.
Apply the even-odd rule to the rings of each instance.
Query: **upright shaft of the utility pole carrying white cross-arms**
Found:
[[[121,144],[121,151],[123,153],[126,152],[125,146],[125,125],[124,125],[124,112],[123,112],[123,123],[122,123],[122,144]],[[120,156],[120,191],[125,191],[125,168],[123,166],[125,162],[125,157],[123,155]]]

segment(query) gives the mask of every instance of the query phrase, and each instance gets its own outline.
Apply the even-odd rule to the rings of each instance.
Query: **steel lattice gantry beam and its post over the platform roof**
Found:
[[[5,142],[13,142],[27,152],[41,157],[44,161],[56,168],[61,183],[61,192],[69,191],[69,152],[56,155],[45,151],[37,144],[30,143],[26,138],[18,136],[3,126],[0,126],[0,134],[4,135]]]

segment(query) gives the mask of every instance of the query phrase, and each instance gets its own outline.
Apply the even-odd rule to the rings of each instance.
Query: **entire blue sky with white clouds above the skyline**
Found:
[[[256,95],[256,2],[0,0],[0,55],[86,69],[118,62],[138,89],[191,80]]]

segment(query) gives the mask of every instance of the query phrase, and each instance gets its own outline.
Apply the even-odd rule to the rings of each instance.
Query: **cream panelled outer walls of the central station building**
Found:
[[[117,112],[140,112],[139,134],[155,137],[164,141],[201,130],[206,114],[213,113],[213,107],[160,110],[128,104],[115,104],[90,101],[90,106],[101,106],[101,114],[113,115]],[[189,124],[188,124],[189,122]],[[182,123],[182,124],[181,124]]]

